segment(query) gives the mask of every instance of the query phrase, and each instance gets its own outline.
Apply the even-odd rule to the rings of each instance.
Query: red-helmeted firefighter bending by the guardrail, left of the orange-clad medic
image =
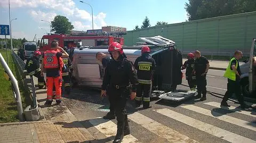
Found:
[[[41,76],[41,69],[39,66],[39,57],[41,56],[41,52],[35,51],[33,56],[29,57],[25,69],[28,71],[29,75],[34,75],[38,79],[38,88],[44,88],[45,81],[44,77]]]

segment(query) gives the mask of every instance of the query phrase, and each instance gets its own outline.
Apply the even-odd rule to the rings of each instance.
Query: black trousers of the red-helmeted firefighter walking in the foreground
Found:
[[[131,91],[127,88],[109,87],[107,90],[107,95],[109,95],[109,102],[111,108],[114,109],[117,120],[117,129],[118,127],[124,128],[125,123],[127,122],[127,112],[125,109],[127,99],[129,98]]]

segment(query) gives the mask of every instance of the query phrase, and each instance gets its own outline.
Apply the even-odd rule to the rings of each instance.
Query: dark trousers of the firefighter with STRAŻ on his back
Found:
[[[140,105],[141,100],[143,100],[143,107],[148,107],[150,103],[150,95],[151,95],[151,84],[142,84],[139,83],[137,87],[137,92],[136,92],[136,104]],[[143,97],[142,97],[143,94]]]

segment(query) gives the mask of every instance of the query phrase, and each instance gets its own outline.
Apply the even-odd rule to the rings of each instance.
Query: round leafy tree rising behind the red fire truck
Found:
[[[57,15],[55,16],[54,20],[51,21],[52,31],[59,34],[68,34],[74,26],[65,16]]]

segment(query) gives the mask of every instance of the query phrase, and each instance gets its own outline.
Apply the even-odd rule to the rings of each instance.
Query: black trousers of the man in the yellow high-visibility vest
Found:
[[[227,102],[228,98],[230,98],[233,93],[236,95],[236,98],[238,99],[238,102],[243,105],[244,104],[244,98],[242,96],[241,87],[240,87],[240,81],[239,80],[230,80],[228,79],[228,90],[226,91],[222,102]]]

